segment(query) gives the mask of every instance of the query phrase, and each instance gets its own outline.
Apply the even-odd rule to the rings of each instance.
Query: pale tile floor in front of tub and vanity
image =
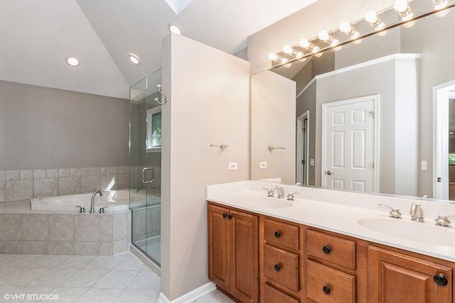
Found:
[[[0,254],[0,302],[158,302],[161,282],[131,253]],[[215,291],[195,303],[233,302]]]

